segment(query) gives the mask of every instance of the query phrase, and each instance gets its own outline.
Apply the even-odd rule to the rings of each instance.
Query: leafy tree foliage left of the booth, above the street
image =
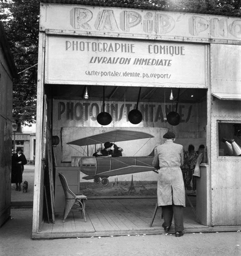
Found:
[[[27,125],[36,120],[39,6],[39,0],[1,0],[0,19],[19,73],[13,81],[13,120]]]

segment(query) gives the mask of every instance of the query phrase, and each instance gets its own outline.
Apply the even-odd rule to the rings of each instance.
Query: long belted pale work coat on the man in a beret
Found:
[[[159,169],[157,180],[158,206],[185,206],[185,188],[181,165],[183,165],[183,146],[167,140],[156,147],[152,165]]]

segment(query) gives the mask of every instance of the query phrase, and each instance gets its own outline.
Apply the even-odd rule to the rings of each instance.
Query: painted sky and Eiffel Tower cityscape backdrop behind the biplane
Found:
[[[129,130],[143,132],[143,128],[116,128],[118,130]],[[116,158],[116,161],[120,162],[120,167],[125,164],[125,156],[129,156],[129,160],[135,161],[135,157],[148,156],[151,153],[154,153],[154,148],[164,143],[163,135],[167,132],[167,128],[154,128],[148,127],[145,129],[145,133],[152,135],[151,138],[129,140],[114,142],[116,145],[123,149],[122,156]],[[72,161],[72,166],[79,166],[79,160],[82,156],[87,155],[87,145],[78,146],[73,144],[67,144],[74,140],[92,136],[95,134],[102,134],[108,131],[113,131],[113,128],[93,128],[93,127],[62,127],[61,129],[61,141],[62,141],[62,162]],[[97,143],[97,149],[103,147],[103,144]],[[95,152],[95,145],[89,145],[89,158]],[[150,157],[149,161],[152,160]],[[93,160],[93,159],[92,159]],[[100,158],[98,158],[98,161]],[[106,164],[108,159],[103,158],[105,161],[103,164]],[[118,165],[117,165],[118,166]],[[118,167],[117,167],[118,168]],[[109,184],[103,186],[101,183],[95,184],[93,179],[85,180],[83,177],[86,176],[84,173],[80,173],[80,192],[88,196],[107,196],[107,195],[156,195],[156,184],[157,184],[157,173],[153,171],[144,171],[135,173],[115,175],[108,177]]]

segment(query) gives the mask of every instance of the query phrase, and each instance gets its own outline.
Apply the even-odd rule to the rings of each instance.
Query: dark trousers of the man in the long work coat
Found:
[[[183,206],[182,205],[165,205],[162,206],[164,226],[170,227],[174,215],[175,231],[183,231]]]

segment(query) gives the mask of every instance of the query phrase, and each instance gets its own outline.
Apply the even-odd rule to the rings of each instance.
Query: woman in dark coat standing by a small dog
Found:
[[[16,190],[21,191],[23,165],[27,163],[27,160],[22,153],[22,148],[17,148],[16,152],[17,153],[12,155],[11,183],[15,183]]]

